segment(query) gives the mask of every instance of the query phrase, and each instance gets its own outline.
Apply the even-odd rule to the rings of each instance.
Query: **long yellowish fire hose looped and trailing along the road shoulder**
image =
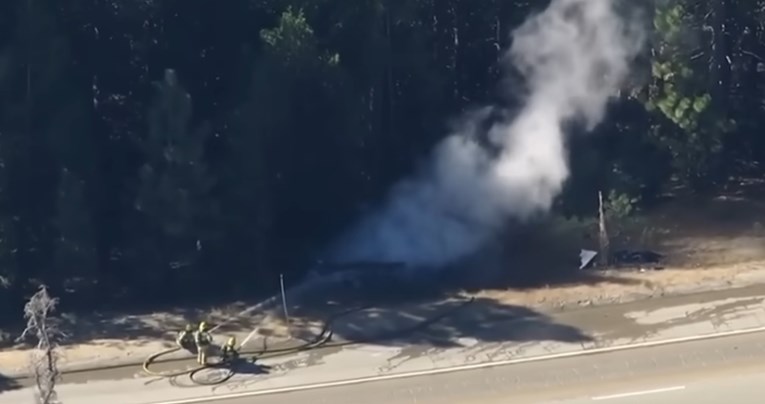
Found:
[[[378,335],[366,336],[366,337],[361,337],[361,338],[355,338],[355,339],[349,340],[349,341],[332,342],[331,339],[332,339],[333,331],[332,331],[331,325],[332,325],[332,323],[334,321],[337,321],[339,318],[347,316],[349,314],[356,313],[356,312],[363,311],[365,309],[370,308],[370,306],[357,307],[357,308],[353,308],[353,309],[349,309],[349,310],[344,310],[344,311],[342,311],[340,313],[337,313],[337,314],[331,316],[329,319],[324,321],[324,325],[323,325],[321,331],[319,332],[319,334],[316,337],[314,337],[311,340],[306,341],[305,343],[302,343],[300,345],[292,346],[292,347],[285,347],[285,348],[274,348],[274,349],[268,349],[267,347],[264,347],[262,349],[250,349],[250,350],[240,351],[239,354],[240,355],[254,355],[254,357],[257,358],[257,359],[271,359],[271,358],[277,358],[277,357],[282,357],[282,356],[293,355],[293,354],[296,354],[296,353],[299,353],[299,352],[308,351],[308,350],[312,350],[312,349],[318,349],[318,348],[345,347],[345,346],[352,346],[352,345],[357,345],[357,344],[372,343],[372,342],[377,342],[377,341],[395,339],[395,338],[401,337],[403,335],[407,335],[407,334],[415,333],[417,331],[424,330],[427,327],[430,327],[433,324],[436,324],[436,323],[442,321],[443,319],[445,319],[445,318],[455,314],[459,310],[461,310],[461,309],[465,308],[466,306],[468,306],[469,304],[473,303],[474,300],[475,300],[475,298],[471,297],[470,299],[465,300],[464,302],[462,302],[461,304],[459,304],[456,307],[453,307],[451,309],[445,310],[444,312],[442,312],[442,313],[440,313],[438,315],[435,315],[435,316],[423,319],[423,320],[421,320],[421,321],[417,322],[416,324],[411,325],[409,327],[402,327],[402,328],[395,329],[395,330],[390,330],[388,332],[381,333],[381,334],[378,334]],[[161,378],[168,378],[168,379],[172,379],[172,378],[177,378],[177,377],[180,377],[180,376],[188,375],[189,379],[192,381],[192,383],[194,383],[196,385],[203,385],[203,386],[211,386],[211,385],[218,385],[218,384],[225,383],[226,381],[228,381],[232,377],[234,377],[234,375],[236,374],[236,369],[235,369],[236,368],[236,366],[235,366],[236,364],[234,362],[232,362],[232,361],[220,361],[220,362],[217,362],[217,363],[200,365],[200,366],[197,366],[197,367],[194,367],[194,368],[191,368],[191,369],[186,369],[186,370],[182,370],[182,371],[175,371],[175,372],[157,372],[157,371],[153,371],[151,369],[152,364],[156,363],[157,360],[160,357],[165,356],[165,355],[169,355],[169,354],[172,354],[172,353],[175,353],[175,352],[177,352],[177,351],[179,351],[181,349],[182,348],[180,348],[180,347],[169,348],[169,349],[166,349],[166,350],[163,350],[163,351],[159,351],[159,352],[157,352],[155,354],[152,354],[152,355],[148,356],[146,358],[146,360],[143,362],[143,371],[144,371],[144,373],[146,373],[146,374],[148,374],[150,376],[161,377]],[[213,381],[200,380],[197,376],[200,374],[200,372],[202,372],[204,370],[207,370],[207,369],[225,369],[227,371],[227,373],[226,373],[225,376],[223,376],[223,377],[221,377],[219,379],[213,380]]]

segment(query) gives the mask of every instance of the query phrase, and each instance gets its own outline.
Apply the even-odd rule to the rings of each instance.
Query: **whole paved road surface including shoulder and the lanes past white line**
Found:
[[[735,387],[735,393],[742,396],[731,404],[765,402],[759,399],[758,383],[752,382],[752,378],[765,375],[765,366],[761,365],[765,363],[765,347],[760,342],[765,341],[762,287],[550,315],[512,305],[483,304],[400,339],[324,345],[280,357],[261,357],[258,363],[264,367],[239,369],[222,385],[194,386],[188,375],[147,376],[133,365],[66,374],[58,392],[62,402],[77,404],[191,404],[215,400],[244,404],[255,399],[272,404],[491,404],[506,403],[508,397],[513,403],[569,400],[570,404],[619,404],[643,399],[651,403],[699,403],[715,394],[733,394],[730,390]],[[382,319],[375,317],[373,323],[380,322]],[[333,324],[333,328],[362,324],[350,320],[346,323]],[[369,320],[363,324],[369,324]],[[687,341],[742,330],[763,333],[620,350],[628,345]],[[612,352],[595,355],[593,350],[599,349]],[[581,356],[583,351],[590,355]],[[548,360],[539,361],[539,357]],[[513,364],[497,366],[497,362]],[[152,369],[168,372],[187,366],[185,362],[173,362]],[[474,370],[444,373],[455,367]],[[479,367],[481,370],[476,370]],[[205,370],[200,377],[210,376],[210,372],[215,371]],[[4,382],[2,373],[0,404],[27,402],[32,397],[32,380],[6,378]],[[407,373],[427,376],[399,377]],[[376,381],[338,383],[358,379]],[[326,388],[300,391],[300,386],[306,385]],[[293,392],[264,394],[287,390]],[[231,395],[237,398],[223,399]]]

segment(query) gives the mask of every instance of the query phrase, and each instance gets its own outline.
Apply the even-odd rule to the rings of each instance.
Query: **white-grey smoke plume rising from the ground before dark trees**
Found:
[[[506,224],[546,211],[568,177],[562,124],[593,129],[629,73],[644,33],[615,0],[552,0],[513,33],[506,60],[526,78],[525,107],[494,125],[489,153],[477,118],[439,144],[425,170],[339,243],[340,261],[438,267],[476,251]]]

